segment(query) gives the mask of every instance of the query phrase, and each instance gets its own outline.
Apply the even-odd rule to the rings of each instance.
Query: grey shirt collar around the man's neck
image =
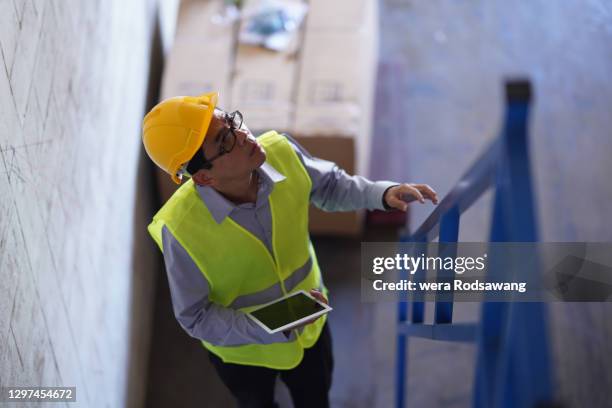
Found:
[[[278,172],[271,164],[267,161],[257,169],[259,173],[260,184],[258,186],[257,199],[263,198],[260,196],[261,191],[267,191],[268,194],[272,192],[274,184],[279,183],[286,179],[284,175]],[[238,208],[238,205],[232,203],[227,198],[223,197],[217,190],[209,186],[199,186],[195,184],[196,190],[200,195],[200,198],[210,211],[211,215],[220,224],[223,222],[225,217],[230,215],[232,211]],[[268,188],[269,187],[269,188]],[[267,198],[267,197],[266,197]]]

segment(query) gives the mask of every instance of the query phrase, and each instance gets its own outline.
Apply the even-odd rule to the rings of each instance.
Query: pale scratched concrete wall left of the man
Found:
[[[2,386],[140,405],[156,271],[139,135],[155,11],[0,1]]]

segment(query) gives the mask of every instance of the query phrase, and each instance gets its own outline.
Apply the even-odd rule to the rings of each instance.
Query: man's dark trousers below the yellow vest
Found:
[[[224,363],[208,353],[221,381],[229,388],[240,408],[272,408],[276,376],[287,384],[295,408],[329,407],[334,359],[327,323],[314,346],[304,350],[304,358],[291,370],[272,370],[240,364]]]

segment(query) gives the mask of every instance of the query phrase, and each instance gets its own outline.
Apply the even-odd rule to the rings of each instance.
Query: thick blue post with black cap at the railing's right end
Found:
[[[538,240],[535,198],[531,186],[527,124],[530,85],[506,85],[503,153],[496,176],[491,242]],[[489,273],[512,265],[489,259]],[[536,268],[521,267],[521,271]],[[485,302],[474,386],[474,407],[531,407],[550,400],[548,332],[542,303]]]

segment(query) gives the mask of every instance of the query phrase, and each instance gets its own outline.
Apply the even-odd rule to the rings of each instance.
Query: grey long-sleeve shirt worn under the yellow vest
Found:
[[[384,209],[384,192],[398,183],[349,176],[335,163],[312,157],[294,139],[285,136],[312,180],[310,201],[315,206],[325,211]],[[259,186],[255,203],[236,205],[211,187],[196,185],[196,189],[217,223],[230,217],[260,239],[274,256],[268,197],[275,183],[285,176],[267,162],[257,171]],[[289,338],[282,333],[269,334],[244,313],[209,301],[206,278],[166,227],[162,229],[162,240],[174,315],[190,336],[217,346],[269,344],[293,339],[293,334]]]

